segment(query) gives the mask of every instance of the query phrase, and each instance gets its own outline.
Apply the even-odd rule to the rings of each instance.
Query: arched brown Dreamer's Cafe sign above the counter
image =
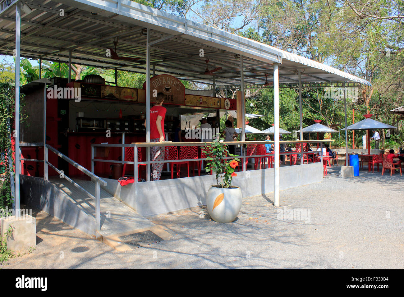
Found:
[[[143,84],[146,89],[146,83]],[[168,74],[156,75],[150,78],[150,102],[156,102],[157,93],[166,95],[164,103],[184,104],[185,87],[177,78]]]

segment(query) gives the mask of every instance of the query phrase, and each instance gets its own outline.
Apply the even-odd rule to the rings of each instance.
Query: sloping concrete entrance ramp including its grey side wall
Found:
[[[81,187],[92,195],[95,195],[95,183],[81,179],[74,179]],[[38,184],[39,183],[39,184]],[[128,244],[127,235],[152,232],[154,237],[160,240],[168,240],[170,234],[158,227],[136,211],[126,206],[108,194],[100,190],[101,230],[94,230],[95,226],[95,201],[88,197],[80,189],[63,178],[52,177],[49,182],[38,177],[24,176],[21,188],[28,196],[25,197],[28,204],[42,209],[61,219],[61,221],[79,229],[91,236],[95,236],[119,251],[126,251],[137,246],[143,246],[145,242],[137,242],[137,246]],[[40,201],[30,195],[36,191],[40,195]],[[133,236],[132,236],[133,237]]]

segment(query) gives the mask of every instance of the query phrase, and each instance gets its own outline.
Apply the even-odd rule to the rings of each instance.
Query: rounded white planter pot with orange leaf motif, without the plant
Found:
[[[223,189],[211,185],[206,195],[206,207],[210,217],[218,223],[230,223],[240,212],[242,193],[239,187]]]

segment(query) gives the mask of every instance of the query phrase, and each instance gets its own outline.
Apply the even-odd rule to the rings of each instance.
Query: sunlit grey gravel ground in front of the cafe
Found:
[[[337,171],[282,191],[280,208],[272,194],[246,198],[232,223],[210,221],[204,208],[150,218],[173,237],[126,252],[41,211],[36,249],[0,268],[402,269],[404,176],[360,171],[342,179]]]

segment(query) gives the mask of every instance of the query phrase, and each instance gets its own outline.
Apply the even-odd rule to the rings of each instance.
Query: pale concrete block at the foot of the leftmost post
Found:
[[[8,251],[28,251],[31,247],[36,246],[36,219],[34,217],[25,214],[21,217],[13,215],[0,218],[2,238],[10,225],[13,229],[11,236],[7,238]]]

